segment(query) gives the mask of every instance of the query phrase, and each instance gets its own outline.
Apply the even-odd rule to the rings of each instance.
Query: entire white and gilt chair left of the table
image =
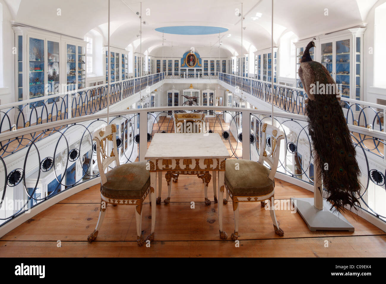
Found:
[[[137,243],[142,246],[145,240],[141,233],[142,204],[149,194],[154,194],[150,187],[150,172],[146,170],[146,162],[133,162],[120,165],[117,151],[116,137],[117,127],[112,124],[105,129],[98,129],[93,133],[93,141],[96,142],[97,162],[101,179],[100,211],[95,230],[88,236],[89,242],[94,241],[106,213],[107,204],[135,205],[135,219],[137,221]],[[110,142],[109,142],[110,141]],[[111,152],[108,148],[112,148]],[[110,155],[107,153],[110,152]],[[106,171],[111,163],[116,167]],[[154,167],[154,164],[153,164]],[[154,232],[151,232],[146,240],[154,240]]]

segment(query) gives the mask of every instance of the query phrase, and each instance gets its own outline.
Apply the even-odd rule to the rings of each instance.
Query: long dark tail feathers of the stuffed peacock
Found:
[[[339,100],[335,95],[315,95],[306,106],[314,163],[320,168],[331,209],[360,206],[360,170]]]

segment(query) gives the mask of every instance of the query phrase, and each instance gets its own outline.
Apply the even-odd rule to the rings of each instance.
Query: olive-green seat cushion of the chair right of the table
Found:
[[[239,163],[236,170],[235,163]],[[225,160],[225,179],[227,188],[233,196],[264,196],[274,189],[268,178],[271,170],[251,160]]]

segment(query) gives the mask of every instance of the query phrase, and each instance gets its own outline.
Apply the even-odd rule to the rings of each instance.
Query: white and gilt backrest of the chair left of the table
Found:
[[[102,184],[107,182],[105,169],[108,165],[115,161],[116,166],[119,166],[116,133],[117,126],[115,124],[102,127],[93,133],[93,141],[97,144],[98,169]],[[108,143],[108,141],[111,141],[111,143]]]

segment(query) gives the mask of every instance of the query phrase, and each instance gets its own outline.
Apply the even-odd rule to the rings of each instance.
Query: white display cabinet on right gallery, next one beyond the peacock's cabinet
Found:
[[[271,48],[262,49],[260,51],[256,51],[255,53],[255,64],[257,62],[258,66],[255,66],[255,76],[257,75],[258,80],[266,81],[266,82],[278,82],[278,48],[273,48],[273,56]],[[259,56],[260,55],[260,56]],[[260,64],[259,64],[260,61]],[[261,73],[259,73],[259,70]],[[259,79],[260,75],[260,79]]]

